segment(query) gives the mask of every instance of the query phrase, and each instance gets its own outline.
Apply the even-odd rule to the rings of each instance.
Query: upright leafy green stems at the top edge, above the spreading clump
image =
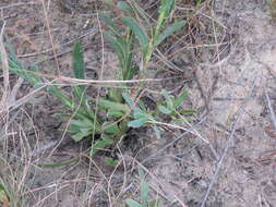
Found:
[[[133,66],[132,60],[134,38],[139,40],[142,53],[142,64],[140,65],[140,70],[145,70],[147,69],[147,64],[151,61],[153,52],[156,50],[156,48],[167,37],[171,36],[185,25],[185,21],[176,21],[166,29],[164,29],[166,22],[175,7],[175,0],[161,0],[157,24],[155,27],[151,28],[148,33],[142,26],[142,24],[137,23],[134,17],[132,17],[134,14],[139,13],[142,14],[143,19],[147,19],[145,15],[143,15],[141,10],[135,9],[135,7],[124,1],[119,1],[118,7],[121,8],[125,14],[130,15],[121,19],[121,22],[127,26],[127,35],[122,35],[120,33],[116,26],[116,23],[110,17],[101,15],[109,28],[108,32],[105,32],[105,37],[116,51],[121,63],[122,71],[125,72],[125,69],[127,71],[130,70],[130,74],[137,72],[137,70],[135,70],[136,68]],[[147,20],[145,20],[145,22],[147,22]]]

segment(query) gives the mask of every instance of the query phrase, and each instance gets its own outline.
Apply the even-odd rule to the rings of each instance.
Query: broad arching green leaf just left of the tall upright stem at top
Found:
[[[135,37],[139,39],[141,47],[143,48],[143,51],[145,52],[148,47],[148,37],[146,33],[141,28],[141,26],[132,19],[132,17],[122,17],[123,24],[128,25],[133,33],[135,34]]]

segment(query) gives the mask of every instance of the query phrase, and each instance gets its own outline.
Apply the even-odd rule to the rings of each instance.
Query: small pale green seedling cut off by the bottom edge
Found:
[[[161,205],[160,199],[151,200],[149,199],[149,186],[145,180],[145,173],[143,170],[139,170],[140,174],[140,203],[134,199],[127,199],[125,203],[129,207],[158,207]]]

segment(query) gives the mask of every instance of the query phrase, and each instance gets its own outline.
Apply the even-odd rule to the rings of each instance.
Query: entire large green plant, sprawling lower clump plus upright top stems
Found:
[[[120,62],[118,72],[119,80],[132,80],[140,71],[147,69],[155,49],[167,37],[184,26],[184,21],[177,21],[164,29],[166,21],[173,9],[173,0],[161,0],[157,24],[155,27],[151,27],[148,33],[132,17],[135,15],[143,16],[143,12],[124,1],[118,2],[118,7],[127,15],[121,19],[124,25],[123,31],[119,28],[112,19],[104,14],[101,15],[101,19],[108,27],[104,32],[105,38],[111,45]],[[134,52],[137,52],[136,50],[134,51],[137,45],[136,42],[139,42],[139,51],[141,53],[141,64],[139,66],[133,60]],[[160,131],[156,123],[161,121],[160,114],[165,113],[178,119],[178,115],[184,112],[180,111],[177,113],[176,110],[187,97],[185,92],[182,92],[178,98],[175,98],[164,90],[163,95],[165,100],[158,102],[157,110],[152,111],[146,109],[143,101],[139,98],[134,100],[131,98],[130,90],[125,87],[127,85],[123,85],[122,88],[109,88],[106,97],[97,99],[88,97],[84,85],[72,85],[72,94],[69,95],[62,88],[51,84],[55,82],[52,75],[48,75],[48,80],[45,81],[46,78],[41,77],[43,75],[38,73],[36,66],[31,66],[28,70],[25,70],[16,59],[11,44],[8,44],[8,47],[11,54],[9,60],[10,70],[27,80],[36,88],[45,88],[50,95],[61,101],[69,111],[58,114],[70,118],[67,133],[75,142],[86,137],[91,138],[91,156],[95,155],[99,149],[105,149],[119,142],[131,127],[141,127],[146,124],[151,125],[157,137],[159,137]],[[72,64],[74,77],[84,80],[85,65],[81,42],[74,45]],[[137,90],[137,94],[140,94],[141,90],[139,88]],[[108,158],[107,162],[116,165],[116,162]]]

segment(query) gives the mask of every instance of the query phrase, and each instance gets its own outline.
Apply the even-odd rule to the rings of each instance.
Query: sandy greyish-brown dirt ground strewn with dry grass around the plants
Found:
[[[107,10],[106,5],[92,0],[81,1],[81,5],[57,0],[45,1],[45,11],[41,2],[0,2],[4,34],[24,65],[70,76],[72,46],[82,39],[86,78],[99,78],[103,45],[96,12]],[[183,5],[192,7],[183,2],[189,1],[177,1],[180,16]],[[264,0],[213,2],[212,10],[203,7],[191,22],[193,41],[183,38],[176,46],[168,40],[160,48],[184,73],[184,80],[147,86],[157,92],[184,84],[190,94],[185,107],[199,111],[190,133],[168,130],[160,141],[153,141],[149,130],[135,131],[131,136],[147,138],[146,145],[133,147],[135,150],[128,145],[117,169],[105,165],[103,156],[91,162],[83,156],[73,165],[43,167],[76,160],[88,145],[67,137],[61,131],[67,122],[55,115],[62,106],[45,92],[36,93],[19,110],[11,127],[13,133],[24,132],[25,137],[20,144],[13,137],[11,153],[19,156],[27,145],[25,155],[31,156],[26,156],[25,206],[124,206],[125,198],[139,195],[139,176],[131,169],[141,165],[148,173],[152,197],[158,195],[164,206],[276,207],[276,129],[272,121],[272,110],[276,111],[276,20]],[[118,61],[108,46],[104,57],[103,78],[112,80]],[[166,66],[155,66],[148,76],[171,75]],[[11,75],[10,80],[14,85],[17,77]],[[89,86],[92,94],[96,89]],[[24,82],[16,98],[32,90]]]

